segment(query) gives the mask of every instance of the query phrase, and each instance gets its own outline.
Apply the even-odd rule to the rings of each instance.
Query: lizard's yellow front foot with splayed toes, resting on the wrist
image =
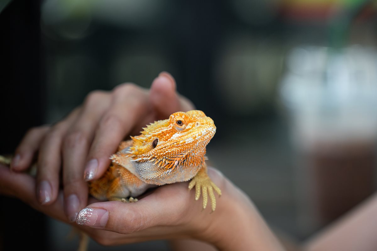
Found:
[[[195,186],[195,200],[200,198],[200,193],[203,194],[203,209],[207,207],[208,198],[211,199],[211,209],[215,211],[216,209],[216,198],[213,190],[221,195],[221,190],[218,186],[213,183],[207,173],[207,165],[204,163],[198,173],[192,178],[189,184],[189,189],[191,190]]]

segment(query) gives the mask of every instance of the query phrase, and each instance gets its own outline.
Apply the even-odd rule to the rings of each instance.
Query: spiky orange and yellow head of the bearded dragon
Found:
[[[201,164],[205,147],[216,132],[213,120],[199,110],[173,113],[169,119],[143,129],[141,135],[131,137],[134,143],[129,157],[171,170],[176,166]]]

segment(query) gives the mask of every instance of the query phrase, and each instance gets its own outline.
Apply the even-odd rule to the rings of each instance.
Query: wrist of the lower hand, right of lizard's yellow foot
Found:
[[[219,250],[283,250],[247,195],[224,178],[223,195],[205,230]]]

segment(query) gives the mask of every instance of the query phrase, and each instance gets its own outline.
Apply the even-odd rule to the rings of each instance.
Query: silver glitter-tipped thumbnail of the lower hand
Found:
[[[103,208],[84,208],[78,213],[76,223],[88,227],[105,227],[109,212]]]

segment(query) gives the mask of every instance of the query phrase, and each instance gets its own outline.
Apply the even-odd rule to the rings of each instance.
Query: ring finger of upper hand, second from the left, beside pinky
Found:
[[[65,120],[53,126],[44,137],[39,151],[36,177],[36,193],[40,204],[51,204],[57,197],[62,138],[80,111],[81,108],[72,111]]]

